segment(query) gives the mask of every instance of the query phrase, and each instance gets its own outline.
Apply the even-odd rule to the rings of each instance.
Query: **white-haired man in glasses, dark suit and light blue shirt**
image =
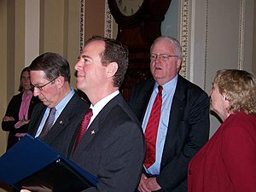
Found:
[[[138,83],[131,91],[129,105],[147,129],[157,87],[162,90],[156,142],[146,137],[147,153],[155,146],[154,161],[145,166],[138,186],[140,192],[187,191],[189,160],[209,136],[209,99],[195,84],[178,74],[182,49],[175,38],[155,39],[150,49],[150,70],[154,79]],[[153,152],[152,152],[153,153]],[[147,156],[147,154],[146,154]]]

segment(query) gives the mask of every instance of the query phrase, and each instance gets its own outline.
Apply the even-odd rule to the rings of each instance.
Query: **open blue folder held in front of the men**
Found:
[[[0,181],[15,189],[44,186],[56,192],[79,192],[96,186],[96,177],[26,135],[0,158]]]

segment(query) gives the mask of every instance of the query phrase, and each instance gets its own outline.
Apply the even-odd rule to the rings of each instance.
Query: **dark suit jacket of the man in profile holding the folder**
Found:
[[[98,178],[97,189],[84,191],[133,192],[143,158],[143,131],[119,94],[97,114],[71,160]]]

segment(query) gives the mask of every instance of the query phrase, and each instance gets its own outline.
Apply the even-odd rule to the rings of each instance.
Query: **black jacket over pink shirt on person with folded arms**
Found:
[[[19,121],[19,113],[20,113],[20,105],[22,102],[23,93],[19,93],[12,97],[9,101],[8,107],[6,109],[6,113],[4,116],[11,116],[15,119],[15,121],[2,121],[2,129],[3,131],[9,131],[8,137],[8,145],[7,149],[11,148],[15,143],[19,141],[18,137],[15,137],[16,133],[26,133],[28,129],[28,124],[20,126],[19,129],[15,129],[15,124]],[[30,119],[32,115],[32,110],[35,105],[40,102],[38,96],[32,96],[31,102],[29,104],[27,118]]]

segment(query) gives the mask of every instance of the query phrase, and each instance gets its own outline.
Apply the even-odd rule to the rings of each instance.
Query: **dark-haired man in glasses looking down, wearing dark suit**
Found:
[[[34,108],[28,133],[68,157],[76,127],[90,105],[70,86],[69,63],[61,55],[39,55],[29,69],[33,95],[43,103]]]

